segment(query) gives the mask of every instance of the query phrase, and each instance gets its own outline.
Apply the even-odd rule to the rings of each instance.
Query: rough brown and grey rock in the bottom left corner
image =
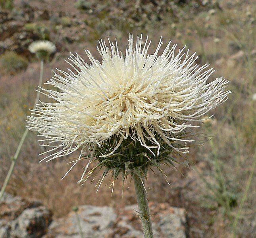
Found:
[[[40,201],[4,194],[0,202],[1,238],[39,238],[47,232],[51,212]]]

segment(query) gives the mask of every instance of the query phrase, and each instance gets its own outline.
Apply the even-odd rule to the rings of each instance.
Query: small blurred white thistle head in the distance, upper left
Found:
[[[29,45],[29,51],[44,59],[56,51],[56,46],[48,40],[37,40]]]

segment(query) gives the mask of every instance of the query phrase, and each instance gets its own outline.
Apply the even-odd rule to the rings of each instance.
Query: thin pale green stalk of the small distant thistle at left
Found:
[[[41,60],[41,62],[40,62],[40,77],[39,77],[39,85],[38,85],[39,88],[38,88],[38,92],[37,92],[37,96],[35,99],[35,104],[34,104],[33,109],[35,108],[35,106],[37,105],[38,100],[39,100],[39,95],[40,95],[41,86],[42,86],[43,70],[44,70],[44,61]],[[1,192],[0,192],[0,201],[2,200],[2,198],[4,196],[4,191],[6,190],[6,186],[12,176],[12,172],[13,172],[14,166],[16,164],[17,158],[19,156],[19,152],[21,151],[21,147],[23,146],[23,143],[25,141],[25,138],[26,138],[28,132],[29,132],[29,129],[26,128],[25,131],[23,132],[23,135],[21,137],[21,140],[20,140],[17,150],[15,152],[15,155],[12,157],[12,163],[11,163],[10,169],[6,175],[4,184],[3,184]]]

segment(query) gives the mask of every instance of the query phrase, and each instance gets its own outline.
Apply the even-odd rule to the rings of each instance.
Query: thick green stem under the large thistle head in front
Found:
[[[148,199],[146,190],[142,184],[142,180],[138,175],[133,176],[137,202],[139,205],[140,218],[144,233],[144,238],[153,238],[152,224],[148,207]]]

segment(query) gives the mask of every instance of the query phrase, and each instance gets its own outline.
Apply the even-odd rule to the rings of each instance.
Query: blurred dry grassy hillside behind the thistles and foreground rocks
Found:
[[[202,132],[214,136],[206,136],[203,146],[192,146],[186,155],[189,169],[164,168],[171,187],[158,171],[149,171],[148,199],[185,208],[187,237],[256,237],[255,10],[254,0],[0,0],[0,187],[36,96],[40,65],[28,51],[31,42],[56,44],[44,67],[45,82],[51,69],[67,69],[69,52],[89,63],[83,51],[88,49],[100,60],[100,38],[117,38],[124,52],[129,33],[148,35],[152,50],[163,36],[164,45],[172,40],[191,54],[196,51],[196,63],[210,63],[216,69],[212,79],[225,77],[233,93],[211,112],[215,117],[201,124]],[[96,193],[100,174],[93,182],[77,184],[86,161],[61,180],[70,167],[67,162],[77,155],[39,164],[44,148],[37,139],[29,132],[6,189],[9,194],[41,200],[54,218],[77,205],[121,209],[136,203],[129,182],[122,196],[117,180],[112,197],[110,184]]]

